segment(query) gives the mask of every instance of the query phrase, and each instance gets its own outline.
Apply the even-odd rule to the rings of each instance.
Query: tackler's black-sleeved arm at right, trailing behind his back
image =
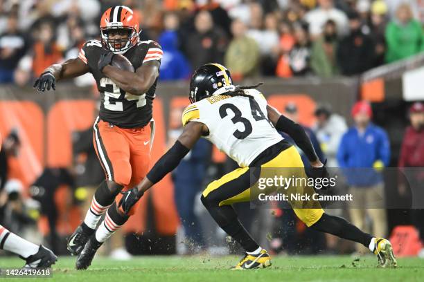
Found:
[[[303,130],[303,127],[281,115],[274,107],[267,105],[268,119],[274,124],[275,129],[288,133],[297,146],[305,153],[312,167],[322,167],[323,164],[319,160],[315,149],[310,142],[310,138]]]

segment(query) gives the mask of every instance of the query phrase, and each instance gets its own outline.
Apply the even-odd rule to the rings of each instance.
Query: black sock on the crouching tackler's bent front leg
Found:
[[[219,206],[218,203],[211,203],[208,199],[202,196],[202,203],[208,210],[209,214],[218,223],[218,225],[233,237],[246,252],[254,252],[259,245],[251,238],[245,227],[238,220],[237,214],[231,205]]]

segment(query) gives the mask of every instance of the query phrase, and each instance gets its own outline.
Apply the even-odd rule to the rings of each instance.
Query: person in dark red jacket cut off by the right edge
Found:
[[[400,158],[398,167],[401,169],[408,167],[424,167],[424,104],[416,102],[409,109],[409,120],[411,125],[407,127],[403,136],[402,147],[400,149]],[[422,171],[420,169],[419,171]],[[416,169],[405,171],[407,182],[412,188],[412,207],[418,207],[423,198],[423,190],[419,189],[424,180],[424,173],[420,173]],[[403,178],[405,179],[405,178]],[[419,190],[418,190],[419,189]],[[400,182],[398,185],[400,195],[405,195],[407,186],[405,182]],[[422,207],[422,205],[421,205]],[[421,241],[424,243],[424,209],[412,209],[412,223],[420,233]],[[424,248],[418,254],[424,257]]]

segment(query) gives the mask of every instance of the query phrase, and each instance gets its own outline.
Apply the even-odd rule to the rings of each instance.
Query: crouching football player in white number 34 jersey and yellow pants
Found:
[[[290,173],[306,177],[297,149],[283,140],[277,131],[288,133],[306,153],[312,165],[312,177],[328,177],[303,128],[269,106],[255,87],[234,86],[229,71],[220,64],[206,64],[198,68],[190,83],[189,99],[192,104],[182,116],[184,131],[173,147],[154,164],[146,178],[137,187],[126,191],[119,203],[125,212],[130,211],[146,190],[177,167],[199,138],[210,140],[240,166],[211,182],[202,193],[202,203],[213,219],[246,252],[233,269],[271,265],[270,255],[251,238],[231,206],[251,200],[252,176],[256,179],[258,173],[266,171],[266,168],[288,168]],[[313,193],[307,185],[298,185],[295,189]],[[303,201],[299,205],[289,200],[289,203],[308,227],[362,243],[378,256],[380,265],[396,266],[387,239],[366,234],[344,218],[325,214],[317,201]]]

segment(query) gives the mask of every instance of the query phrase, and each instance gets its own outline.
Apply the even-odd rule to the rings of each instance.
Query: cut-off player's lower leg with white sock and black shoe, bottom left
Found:
[[[35,245],[24,238],[13,234],[0,225],[0,249],[15,253],[26,261],[24,267],[50,267],[57,260],[51,250],[43,245]]]

